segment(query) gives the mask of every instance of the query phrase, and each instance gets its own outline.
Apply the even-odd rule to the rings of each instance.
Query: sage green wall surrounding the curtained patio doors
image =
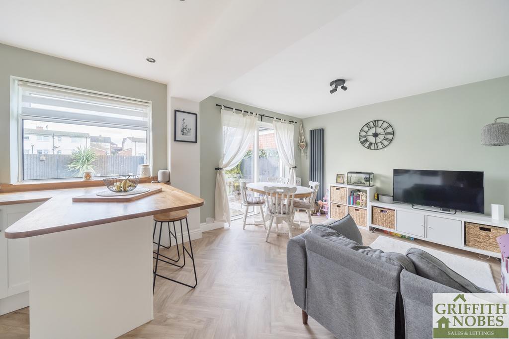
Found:
[[[208,97],[200,103],[200,196],[205,200],[205,205],[200,208],[201,223],[204,223],[208,217],[214,218],[214,192],[216,186],[216,171],[214,168],[219,165],[222,147],[221,114],[219,113],[220,108],[216,107],[216,104],[300,122],[300,119],[293,116],[215,97]],[[265,118],[264,121],[272,122],[268,118]],[[297,147],[299,124],[295,125],[294,139],[297,176],[300,176],[300,150]]]

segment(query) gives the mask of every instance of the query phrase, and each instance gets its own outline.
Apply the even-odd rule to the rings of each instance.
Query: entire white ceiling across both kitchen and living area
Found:
[[[507,0],[0,0],[0,42],[306,117],[509,75],[507,17]]]

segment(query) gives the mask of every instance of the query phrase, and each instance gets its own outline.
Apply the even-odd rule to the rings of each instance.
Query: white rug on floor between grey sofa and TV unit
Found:
[[[405,254],[407,250],[412,247],[426,251],[443,261],[444,264],[449,266],[457,273],[463,275],[466,279],[470,280],[475,285],[485,288],[489,291],[497,292],[497,287],[495,281],[493,280],[491,268],[488,263],[460,257],[455,254],[429,249],[412,242],[406,242],[382,235],[373,241],[370,246],[374,249],[379,249],[384,252],[396,252],[402,254]]]

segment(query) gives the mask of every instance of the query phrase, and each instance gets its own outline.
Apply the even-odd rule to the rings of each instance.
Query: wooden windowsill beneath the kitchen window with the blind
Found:
[[[152,180],[157,180],[157,177],[149,176],[146,178],[140,178],[139,183],[149,183]],[[97,186],[104,186],[104,181],[102,181],[102,178],[93,178],[92,180],[82,180],[80,178],[30,180],[16,183],[0,183],[0,193],[62,190]]]

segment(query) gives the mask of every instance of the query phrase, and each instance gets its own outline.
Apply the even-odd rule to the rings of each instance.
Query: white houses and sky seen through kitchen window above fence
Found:
[[[52,131],[42,127],[23,130],[24,154],[56,154],[70,155],[78,146],[90,147],[97,155],[147,155],[147,140],[144,138],[127,137],[122,145],[111,141],[111,137],[94,136],[89,133]]]

